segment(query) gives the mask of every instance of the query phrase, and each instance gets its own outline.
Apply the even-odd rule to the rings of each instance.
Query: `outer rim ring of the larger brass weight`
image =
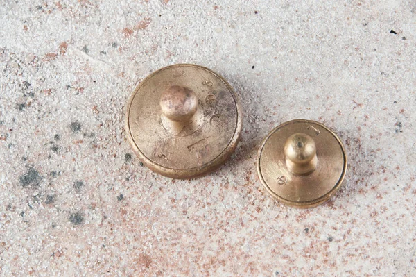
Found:
[[[133,136],[130,129],[130,109],[132,106],[132,102],[135,99],[135,96],[137,92],[141,89],[141,86],[146,83],[146,81],[149,78],[153,78],[156,74],[159,72],[162,72],[166,69],[169,69],[171,67],[196,67],[198,69],[203,69],[222,81],[229,92],[231,92],[232,97],[234,99],[234,103],[236,104],[236,128],[234,129],[234,134],[232,136],[232,139],[229,141],[225,149],[216,156],[213,160],[208,162],[205,165],[202,165],[201,167],[193,167],[191,169],[172,169],[169,167],[163,167],[162,165],[158,165],[156,162],[153,162],[153,160],[150,160],[147,156],[144,155],[144,153],[141,152],[135,141],[133,140]],[[132,151],[135,153],[137,158],[141,162],[143,162],[146,167],[148,167],[150,170],[155,171],[157,174],[161,174],[162,176],[166,176],[169,178],[177,178],[177,179],[191,179],[196,178],[199,176],[203,176],[205,174],[209,174],[210,172],[218,169],[221,165],[223,165],[230,156],[232,156],[232,153],[234,153],[237,144],[239,143],[239,138],[241,136],[241,131],[243,127],[243,117],[242,117],[242,111],[241,111],[241,103],[239,100],[239,97],[237,96],[236,92],[232,88],[231,85],[221,76],[220,74],[214,72],[213,70],[203,67],[201,65],[194,65],[194,64],[187,64],[187,63],[180,63],[175,65],[168,65],[166,67],[162,67],[160,69],[157,69],[155,72],[152,72],[146,76],[136,87],[135,90],[133,90],[132,94],[130,95],[130,99],[128,101],[128,106],[125,109],[125,131],[126,131],[126,137],[127,140],[132,148]]]

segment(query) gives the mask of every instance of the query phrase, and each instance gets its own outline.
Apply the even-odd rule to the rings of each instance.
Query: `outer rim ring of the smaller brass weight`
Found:
[[[338,179],[337,183],[332,187],[332,189],[329,192],[327,192],[326,194],[318,197],[317,199],[313,199],[311,201],[291,201],[291,200],[288,200],[288,199],[284,199],[283,197],[279,196],[274,191],[272,191],[272,189],[268,186],[267,182],[264,180],[263,174],[261,172],[261,161],[260,161],[261,160],[261,154],[263,153],[263,148],[264,148],[264,146],[266,146],[266,143],[268,142],[270,137],[272,135],[274,135],[277,131],[279,131],[279,129],[284,128],[285,126],[288,126],[290,124],[295,124],[295,123],[316,124],[316,125],[324,128],[325,130],[329,131],[329,133],[331,133],[331,135],[333,135],[333,137],[335,137],[335,139],[338,142],[338,144],[340,145],[341,151],[343,153],[343,171],[342,171],[342,173],[340,175],[340,178]],[[257,154],[257,174],[259,174],[259,179],[260,179],[261,183],[263,184],[263,187],[265,187],[266,190],[268,191],[268,193],[274,199],[276,199],[277,201],[283,203],[284,205],[288,205],[288,206],[293,207],[293,208],[301,208],[301,209],[313,208],[313,207],[321,205],[321,204],[325,203],[327,200],[329,200],[331,198],[331,196],[333,196],[333,194],[335,194],[340,189],[340,187],[342,186],[344,178],[345,178],[345,174],[347,173],[347,165],[348,165],[347,154],[345,153],[345,148],[344,148],[343,142],[340,140],[338,135],[336,135],[336,133],[334,133],[330,128],[328,128],[324,124],[322,124],[318,121],[313,121],[313,120],[308,120],[308,119],[294,119],[294,120],[291,120],[291,121],[286,121],[283,124],[280,124],[279,126],[273,128],[272,131],[270,131],[270,133],[268,133],[268,135],[266,135],[263,142],[261,142],[261,146],[260,146],[258,154]]]

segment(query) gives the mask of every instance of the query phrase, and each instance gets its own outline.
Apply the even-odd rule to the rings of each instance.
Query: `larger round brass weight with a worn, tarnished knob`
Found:
[[[199,65],[153,72],[127,106],[133,151],[148,168],[170,178],[196,178],[220,167],[234,152],[241,125],[232,87]]]

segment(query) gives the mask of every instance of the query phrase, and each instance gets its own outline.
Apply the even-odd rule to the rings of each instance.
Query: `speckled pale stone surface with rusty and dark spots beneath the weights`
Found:
[[[1,276],[416,276],[415,1],[0,1]],[[222,74],[243,135],[173,181],[125,142],[150,72]],[[345,143],[344,187],[296,210],[258,180],[290,119]]]

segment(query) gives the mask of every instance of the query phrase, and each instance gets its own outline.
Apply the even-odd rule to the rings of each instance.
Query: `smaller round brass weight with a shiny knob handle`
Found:
[[[266,190],[295,208],[327,201],[343,182],[347,156],[329,128],[297,119],[273,129],[261,144],[257,171]]]

